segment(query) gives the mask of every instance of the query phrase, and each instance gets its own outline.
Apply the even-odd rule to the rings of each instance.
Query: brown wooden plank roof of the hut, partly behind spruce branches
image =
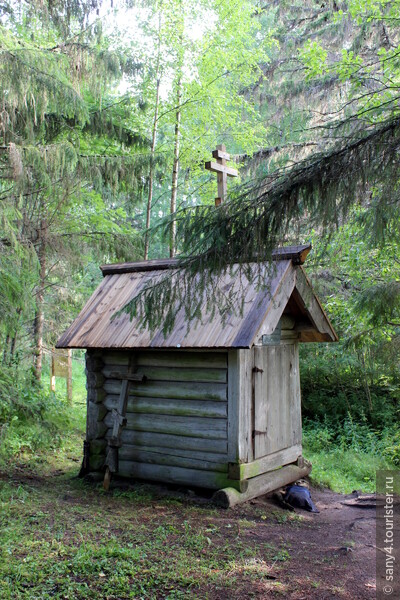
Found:
[[[284,250],[287,250],[285,253]],[[227,297],[234,295],[242,300],[242,310],[230,313],[224,321],[218,310],[213,314],[206,311],[203,302],[201,319],[188,322],[183,309],[177,312],[172,331],[164,336],[162,327],[156,331],[141,328],[138,320],[127,313],[113,315],[137,296],[150,282],[156,283],[165,276],[165,271],[173,270],[173,277],[179,276],[178,261],[146,261],[124,263],[102,267],[104,279],[91,296],[70,328],[61,336],[58,348],[250,348],[257,340],[260,331],[272,332],[282,316],[289,299],[296,293],[297,271],[301,267],[300,254],[304,256],[309,247],[282,249],[276,253],[276,261],[251,265],[254,281],[246,277],[239,266],[224,273],[216,285]],[[308,252],[307,252],[308,253]],[[295,263],[295,264],[293,264]],[[264,281],[260,289],[258,276]],[[334,341],[336,334],[310,287],[301,281],[302,289],[307,288],[302,301],[297,301],[299,311],[307,315],[313,311],[314,318],[309,328],[326,341]],[[266,284],[265,284],[266,282]],[[310,337],[311,335],[311,337]]]

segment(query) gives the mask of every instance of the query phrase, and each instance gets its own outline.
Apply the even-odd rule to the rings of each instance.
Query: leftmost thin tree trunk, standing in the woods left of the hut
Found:
[[[35,335],[35,363],[34,363],[34,375],[37,381],[41,380],[42,377],[42,358],[43,358],[43,326],[44,326],[44,312],[43,312],[43,299],[44,299],[44,286],[46,280],[46,238],[47,238],[47,223],[44,219],[40,221],[39,233],[39,247],[38,247],[38,259],[39,259],[39,284],[36,292],[36,311],[35,311],[35,322],[34,322],[34,335]]]

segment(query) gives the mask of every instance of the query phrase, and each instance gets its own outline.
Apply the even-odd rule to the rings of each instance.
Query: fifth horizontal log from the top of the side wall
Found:
[[[109,412],[104,419],[107,427],[112,427],[113,418]],[[154,433],[169,433],[184,437],[202,437],[226,439],[225,419],[205,419],[201,417],[172,417],[169,415],[128,414],[126,429],[135,431],[152,431]]]

